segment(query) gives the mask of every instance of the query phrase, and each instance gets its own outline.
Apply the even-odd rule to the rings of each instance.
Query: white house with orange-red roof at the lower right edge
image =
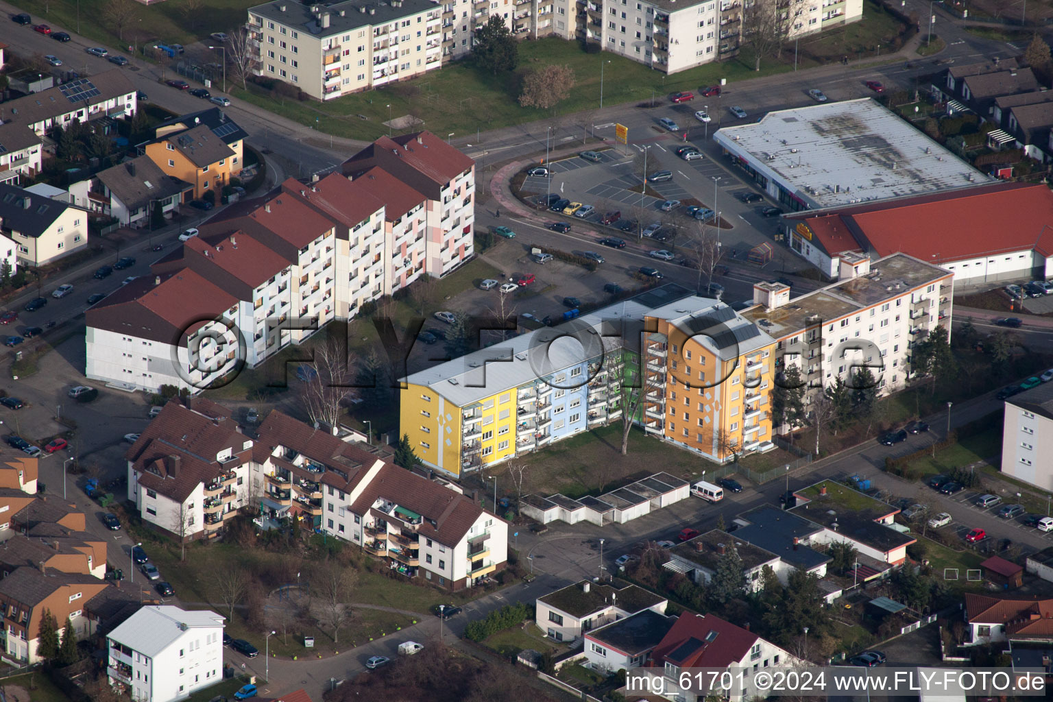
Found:
[[[1053,599],[966,593],[966,645],[1004,641],[1053,641]]]

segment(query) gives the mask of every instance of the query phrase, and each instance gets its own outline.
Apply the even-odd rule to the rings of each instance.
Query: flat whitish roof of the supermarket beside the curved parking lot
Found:
[[[713,138],[812,209],[994,182],[870,98],[771,112]]]

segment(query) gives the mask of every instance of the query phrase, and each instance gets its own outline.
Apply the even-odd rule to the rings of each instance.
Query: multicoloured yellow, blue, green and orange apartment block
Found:
[[[728,305],[645,294],[575,324],[591,335],[577,350],[558,343],[567,332],[542,328],[405,378],[400,430],[421,460],[459,476],[627,406],[648,434],[717,461],[771,439],[775,342]]]

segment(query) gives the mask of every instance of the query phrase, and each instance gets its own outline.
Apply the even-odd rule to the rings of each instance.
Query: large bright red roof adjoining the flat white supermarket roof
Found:
[[[1012,226],[1007,226],[1010,213]],[[789,220],[811,227],[827,218],[839,218],[837,226],[865,247],[869,244],[878,257],[902,252],[939,264],[1032,248],[1053,256],[1053,193],[1040,184],[996,183],[822,214],[798,213]],[[839,247],[836,241],[831,245]]]

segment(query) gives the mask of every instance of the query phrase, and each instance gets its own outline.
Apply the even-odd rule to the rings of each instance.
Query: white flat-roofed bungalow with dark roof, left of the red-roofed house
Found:
[[[570,642],[644,609],[663,615],[668,603],[665,598],[622,580],[582,580],[537,598],[534,623],[549,638]]]

